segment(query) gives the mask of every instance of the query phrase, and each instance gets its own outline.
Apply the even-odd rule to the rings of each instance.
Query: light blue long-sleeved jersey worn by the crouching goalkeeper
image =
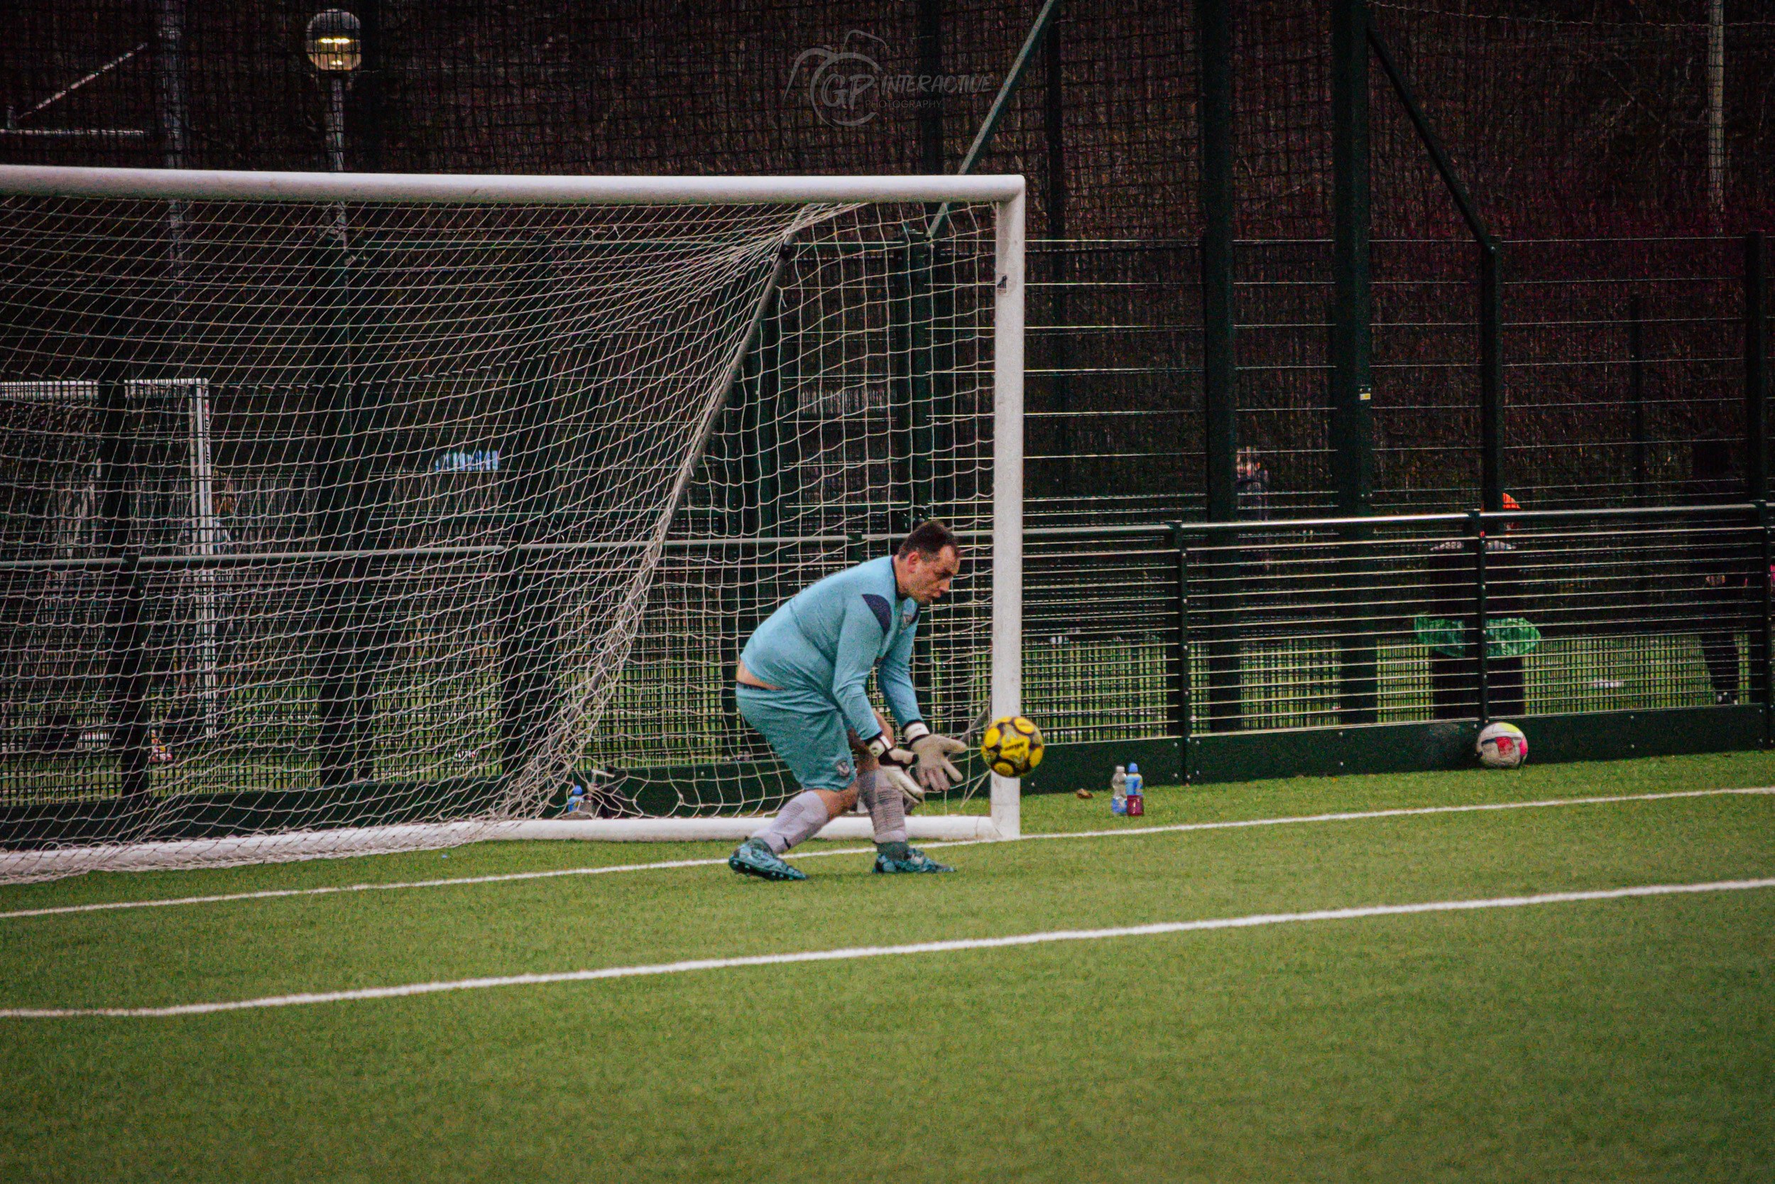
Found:
[[[902,728],[921,719],[912,691],[912,635],[918,602],[902,598],[893,557],[882,556],[827,575],[785,600],[760,625],[740,660],[760,682],[838,706],[861,740],[880,735],[866,685],[877,683]]]

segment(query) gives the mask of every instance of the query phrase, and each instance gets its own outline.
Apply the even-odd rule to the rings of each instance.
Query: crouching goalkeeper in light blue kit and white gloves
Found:
[[[783,852],[861,801],[875,827],[875,872],[953,870],[907,845],[905,809],[960,779],[950,756],[966,746],[925,724],[909,671],[918,614],[950,589],[960,564],[955,534],[925,522],[893,556],[827,575],[753,632],[735,671],[735,698],[801,793],[740,843],[730,868],[767,880],[808,879]],[[903,747],[864,692],[877,664]]]

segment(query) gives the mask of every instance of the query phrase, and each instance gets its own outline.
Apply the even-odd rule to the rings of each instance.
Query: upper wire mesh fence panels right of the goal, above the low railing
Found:
[[[1500,243],[1498,470],[1528,509],[1716,499],[1766,438],[1747,419],[1743,238]],[[1028,517],[1202,518],[1202,252],[1195,241],[1031,243]],[[1331,243],[1234,249],[1239,515],[1335,513]],[[1471,243],[1374,243],[1374,497],[1480,504],[1480,263]],[[1764,341],[1766,341],[1766,328]],[[1715,460],[1718,456],[1718,460]],[[1734,492],[1736,493],[1736,492]]]

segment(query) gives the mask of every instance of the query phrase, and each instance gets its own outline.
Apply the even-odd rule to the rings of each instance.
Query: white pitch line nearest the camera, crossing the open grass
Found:
[[[884,959],[911,953],[957,953],[964,950],[1005,950],[1010,946],[1040,946],[1056,941],[1102,941],[1108,937],[1154,937],[1161,934],[1191,934],[1212,928],[1255,928],[1258,925],[1287,925],[1294,921],[1353,921],[1370,916],[1409,916],[1418,912],[1470,912],[1477,909],[1521,909],[1528,905],[1571,904],[1583,900],[1622,900],[1628,896],[1672,896],[1679,893],[1729,893],[1754,888],[1775,888],[1775,877],[1761,880],[1713,880],[1709,884],[1644,884],[1638,888],[1608,888],[1589,893],[1541,893],[1535,896],[1491,896],[1486,900],[1434,900],[1415,905],[1367,905],[1361,909],[1317,909],[1314,912],[1258,912],[1253,916],[1214,918],[1207,921],[1163,921],[1157,925],[1125,925],[1120,928],[1063,928],[1047,934],[1015,934],[1012,937],[969,937],[958,941],[919,941],[907,946],[850,946],[843,950],[804,950],[799,953],[760,953],[744,959],[694,959],[687,962],[659,962],[653,966],[607,966],[595,971],[564,971],[559,975],[504,975],[499,978],[458,978],[454,982],[405,983],[399,987],[366,987],[360,991],[325,991],[307,994],[277,994],[259,999],[231,999],[225,1003],[179,1003],[176,1006],[71,1006],[0,1008],[7,1019],[76,1019],[89,1015],[163,1017],[208,1015],[211,1012],[245,1012],[266,1006],[305,1006],[312,1003],[357,1003],[360,999],[398,999],[444,991],[486,991],[490,987],[543,987],[548,983],[591,982],[598,978],[643,978],[650,975],[689,975],[692,971],[726,971],[742,966],[786,966],[790,962],[848,962],[856,959]]]

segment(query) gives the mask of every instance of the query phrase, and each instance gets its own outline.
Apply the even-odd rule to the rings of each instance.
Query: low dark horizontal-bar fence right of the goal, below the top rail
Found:
[[[1104,742],[1763,705],[1770,543],[1752,504],[1035,531],[1026,708]]]

